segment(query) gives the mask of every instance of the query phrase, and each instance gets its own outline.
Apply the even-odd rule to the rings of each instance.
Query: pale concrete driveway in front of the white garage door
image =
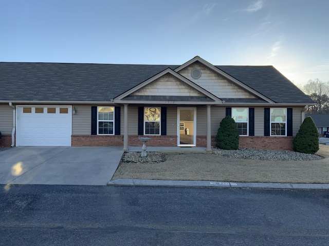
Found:
[[[0,151],[2,185],[106,186],[122,147],[14,147]]]

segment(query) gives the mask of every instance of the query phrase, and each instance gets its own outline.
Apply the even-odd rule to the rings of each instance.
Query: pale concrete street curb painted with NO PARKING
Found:
[[[109,181],[107,186],[329,190],[328,183],[257,183],[147,179],[116,179]]]

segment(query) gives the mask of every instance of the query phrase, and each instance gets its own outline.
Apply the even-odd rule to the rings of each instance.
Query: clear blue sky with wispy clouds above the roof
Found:
[[[273,65],[329,81],[327,0],[3,0],[0,61]]]

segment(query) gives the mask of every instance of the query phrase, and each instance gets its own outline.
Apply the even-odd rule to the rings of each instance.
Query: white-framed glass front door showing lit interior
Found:
[[[196,108],[177,108],[177,146],[196,146]]]

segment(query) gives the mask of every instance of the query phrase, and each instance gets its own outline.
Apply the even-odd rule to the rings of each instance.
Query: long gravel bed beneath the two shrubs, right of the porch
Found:
[[[230,158],[251,159],[251,160],[319,160],[321,156],[299,153],[295,151],[284,150],[259,150],[259,149],[239,149],[222,150],[212,149],[215,155],[221,155]]]

